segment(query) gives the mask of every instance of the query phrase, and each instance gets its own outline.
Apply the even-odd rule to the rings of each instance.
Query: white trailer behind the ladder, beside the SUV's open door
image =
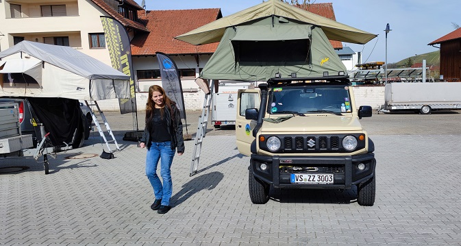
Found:
[[[212,124],[235,125],[237,112],[237,93],[239,89],[254,88],[254,82],[219,82],[217,91],[212,95]]]

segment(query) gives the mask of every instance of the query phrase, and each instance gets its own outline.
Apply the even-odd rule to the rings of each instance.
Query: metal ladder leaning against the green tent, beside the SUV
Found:
[[[205,138],[206,128],[208,126],[208,116],[210,115],[214,81],[211,81],[210,84],[210,93],[205,94],[205,99],[203,100],[203,109],[201,110],[199,125],[197,126],[197,134],[195,134],[195,145],[194,151],[192,153],[192,163],[190,163],[189,177],[194,173],[197,173],[197,170],[199,169],[201,145],[203,143],[203,138]]]

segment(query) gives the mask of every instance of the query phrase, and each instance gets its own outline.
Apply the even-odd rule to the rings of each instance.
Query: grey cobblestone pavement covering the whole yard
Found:
[[[106,115],[121,144],[112,160],[99,158],[96,134],[50,158],[49,175],[33,158],[0,159],[29,167],[0,175],[0,245],[461,245],[456,112],[361,120],[376,149],[372,207],[357,204],[356,190],[271,190],[267,204],[251,204],[234,130],[210,129],[198,173],[189,177],[193,140],[175,156],[167,214],[149,208],[145,149],[121,139],[132,116]]]

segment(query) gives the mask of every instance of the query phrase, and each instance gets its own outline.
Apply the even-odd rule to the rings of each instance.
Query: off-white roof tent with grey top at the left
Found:
[[[128,75],[71,47],[22,41],[0,52],[0,97],[98,101],[129,99],[129,89]]]

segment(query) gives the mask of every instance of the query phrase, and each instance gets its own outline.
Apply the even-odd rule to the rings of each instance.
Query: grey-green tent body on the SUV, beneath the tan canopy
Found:
[[[322,77],[324,72],[338,75],[338,71],[346,71],[320,27],[272,19],[227,28],[200,77],[266,81],[276,73]]]

